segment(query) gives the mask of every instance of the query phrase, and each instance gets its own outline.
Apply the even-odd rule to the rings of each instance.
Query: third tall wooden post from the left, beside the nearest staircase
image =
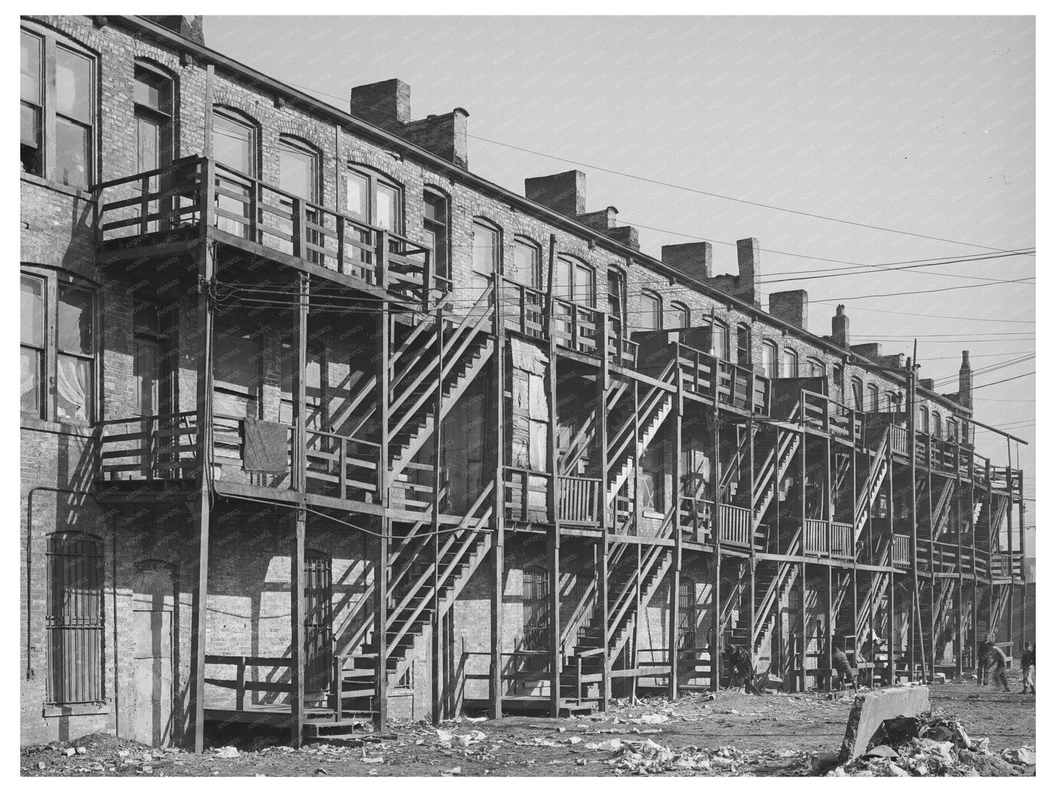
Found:
[[[375,250],[377,259],[378,286],[384,292],[389,288],[389,232],[378,232],[378,243]],[[378,519],[380,535],[378,536],[377,563],[374,569],[374,588],[377,592],[377,607],[374,611],[374,634],[377,640],[378,664],[375,683],[374,719],[379,730],[385,727],[389,721],[389,541],[392,538],[392,519],[389,516],[390,476],[389,476],[389,428],[390,428],[390,374],[392,364],[390,355],[392,345],[390,333],[389,302],[381,303],[378,313],[379,346],[378,356],[378,495],[383,510]]]

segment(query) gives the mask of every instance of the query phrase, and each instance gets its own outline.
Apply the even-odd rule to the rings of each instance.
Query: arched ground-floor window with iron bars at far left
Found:
[[[48,537],[48,701],[102,701],[102,541]]]

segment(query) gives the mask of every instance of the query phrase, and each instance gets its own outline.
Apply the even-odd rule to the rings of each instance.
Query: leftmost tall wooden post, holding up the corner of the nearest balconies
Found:
[[[211,68],[209,75],[211,76]],[[212,163],[206,166],[207,208],[212,207],[213,184]],[[206,215],[207,213],[203,213]],[[195,425],[197,427],[197,497],[193,511],[196,521],[197,560],[191,583],[191,684],[190,719],[194,751],[201,753],[205,747],[205,656],[207,608],[209,602],[209,510],[211,501],[212,467],[212,334],[213,306],[210,290],[215,276],[215,258],[211,245],[210,224],[201,225],[201,246],[199,248],[199,293],[197,293],[197,405]]]

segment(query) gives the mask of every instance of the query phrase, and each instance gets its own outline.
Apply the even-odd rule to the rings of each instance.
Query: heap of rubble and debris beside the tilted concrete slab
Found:
[[[1035,765],[1033,749],[989,750],[989,738],[972,739],[960,721],[945,717],[898,718],[862,756],[828,776],[1008,776]],[[824,762],[823,762],[824,765]],[[818,762],[815,761],[815,769]]]

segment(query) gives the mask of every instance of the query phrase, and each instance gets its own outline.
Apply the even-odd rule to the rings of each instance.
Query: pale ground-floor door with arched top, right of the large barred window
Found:
[[[172,741],[175,583],[164,561],[138,565],[132,588],[132,717],[129,737],[155,748]]]

